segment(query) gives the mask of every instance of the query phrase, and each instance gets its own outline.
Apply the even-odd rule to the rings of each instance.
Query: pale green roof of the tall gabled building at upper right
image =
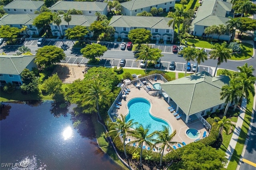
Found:
[[[192,27],[195,25],[212,26],[225,24],[229,19],[227,18],[227,11],[232,10],[232,4],[221,0],[204,0],[202,6],[198,8],[196,17],[192,21]]]

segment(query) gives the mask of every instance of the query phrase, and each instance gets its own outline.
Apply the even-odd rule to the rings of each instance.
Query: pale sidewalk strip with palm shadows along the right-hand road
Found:
[[[232,154],[236,148],[236,143],[238,141],[239,135],[240,135],[240,131],[244,122],[244,115],[245,115],[245,110],[246,110],[246,104],[247,104],[247,100],[245,98],[242,99],[242,104],[241,104],[241,108],[240,108],[240,115],[238,116],[238,120],[236,122],[236,128],[233,132],[232,138],[230,140],[228,149],[226,151],[226,158],[228,159],[228,163],[226,164],[226,166],[224,168],[228,167],[228,164],[230,162],[230,159],[232,157]]]

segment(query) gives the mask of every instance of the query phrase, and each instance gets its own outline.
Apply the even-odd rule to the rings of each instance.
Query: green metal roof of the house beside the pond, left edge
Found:
[[[0,55],[0,73],[19,75],[35,55]]]

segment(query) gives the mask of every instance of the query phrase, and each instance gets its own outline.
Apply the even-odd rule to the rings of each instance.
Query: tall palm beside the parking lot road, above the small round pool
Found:
[[[141,47],[139,49],[139,53],[136,53],[136,55],[135,55],[135,56],[138,56],[138,58],[136,60],[143,60],[146,63],[145,74],[147,74],[148,59],[149,60],[154,59],[155,51],[156,50],[154,48],[151,48],[148,45],[141,45]]]

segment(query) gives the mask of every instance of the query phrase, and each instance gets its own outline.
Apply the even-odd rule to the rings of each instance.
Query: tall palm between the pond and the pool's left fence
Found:
[[[104,101],[108,105],[110,104],[109,99],[105,97],[109,93],[109,89],[107,89],[106,87],[102,87],[102,85],[100,85],[100,81],[98,81],[98,80],[94,80],[94,82],[90,83],[89,87],[90,88],[89,88],[88,92],[85,94],[85,98],[84,98],[83,102],[94,103],[94,108],[95,107],[97,108],[97,114],[101,120],[99,103],[101,101]]]

